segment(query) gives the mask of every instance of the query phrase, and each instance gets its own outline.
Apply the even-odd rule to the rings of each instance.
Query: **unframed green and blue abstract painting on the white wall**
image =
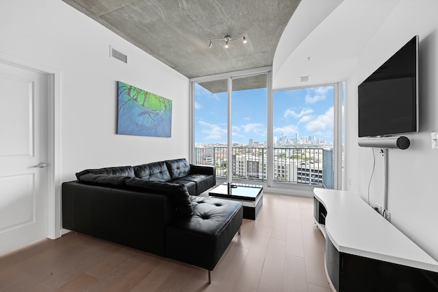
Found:
[[[117,134],[170,137],[172,100],[118,82]]]

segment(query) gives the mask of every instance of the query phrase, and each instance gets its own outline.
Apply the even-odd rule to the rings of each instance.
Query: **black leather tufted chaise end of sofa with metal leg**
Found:
[[[166,256],[207,269],[211,282],[211,271],[242,226],[243,206],[226,199],[190,199],[194,214],[166,228]]]

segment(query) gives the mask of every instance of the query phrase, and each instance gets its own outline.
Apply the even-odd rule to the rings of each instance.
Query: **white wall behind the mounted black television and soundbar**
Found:
[[[414,35],[420,36],[420,132],[405,135],[411,140],[406,150],[389,150],[388,210],[391,222],[438,259],[438,149],[431,149],[430,132],[438,130],[437,109],[437,29],[438,2],[400,0],[376,34],[358,56],[357,72],[348,82],[346,97],[346,160],[348,186],[368,201],[372,173],[372,149],[357,147],[357,85]],[[354,82],[357,76],[357,83]],[[370,185],[370,203],[383,204],[383,156],[376,153],[376,171]],[[356,169],[352,168],[356,164]],[[351,171],[350,171],[351,169]]]

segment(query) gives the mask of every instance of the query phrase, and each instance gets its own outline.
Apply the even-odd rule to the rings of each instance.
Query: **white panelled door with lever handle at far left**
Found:
[[[0,254],[47,236],[49,76],[0,62]]]

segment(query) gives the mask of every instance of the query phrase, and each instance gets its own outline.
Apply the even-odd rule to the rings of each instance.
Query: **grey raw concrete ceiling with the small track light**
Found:
[[[281,34],[301,0],[62,1],[192,78],[272,66]],[[209,48],[209,39],[225,35],[248,41],[230,42],[225,49],[217,40]]]

